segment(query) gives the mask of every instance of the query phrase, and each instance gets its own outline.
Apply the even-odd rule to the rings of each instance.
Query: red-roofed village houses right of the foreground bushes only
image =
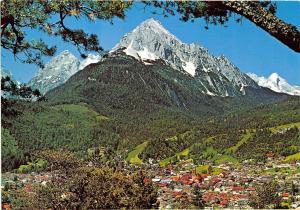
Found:
[[[274,181],[279,186],[277,192],[282,198],[281,207],[298,208],[299,167],[300,162],[278,164],[271,158],[267,166],[249,165],[248,161],[244,161],[238,167],[226,163],[196,167],[191,162],[182,161],[176,166],[161,169],[156,176],[145,181],[159,186],[161,208],[187,208],[193,201],[197,204],[196,194],[200,193],[202,207],[249,209],[249,196],[257,194],[256,187]]]

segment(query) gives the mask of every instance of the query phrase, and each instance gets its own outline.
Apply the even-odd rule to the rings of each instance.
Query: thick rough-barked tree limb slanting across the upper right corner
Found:
[[[300,52],[300,32],[291,24],[285,23],[255,1],[222,1],[226,9],[240,14],[287,45]]]

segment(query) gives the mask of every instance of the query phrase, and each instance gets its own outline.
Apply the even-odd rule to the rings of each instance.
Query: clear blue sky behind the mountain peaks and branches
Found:
[[[300,29],[300,2],[277,2],[279,16],[284,21]],[[253,72],[261,76],[269,76],[277,72],[289,83],[300,85],[300,54],[295,53],[268,33],[243,18],[242,24],[230,20],[228,27],[209,26],[205,30],[205,23],[199,19],[192,22],[182,22],[178,16],[164,18],[153,15],[153,8],[144,11],[141,5],[135,5],[126,13],[125,20],[114,19],[114,24],[105,21],[89,22],[85,19],[70,20],[72,28],[83,28],[88,33],[99,36],[104,49],[111,49],[121,37],[133,30],[148,18],[159,20],[162,25],[185,43],[197,43],[206,47],[215,56],[224,54],[243,72]],[[57,54],[68,49],[79,57],[75,47],[61,41],[59,38],[49,38],[47,35],[29,31],[30,38],[43,38],[50,44],[58,46]],[[51,58],[45,58],[45,62]],[[2,65],[10,70],[14,77],[27,82],[37,71],[35,65],[22,64],[14,60],[13,56],[2,49]]]

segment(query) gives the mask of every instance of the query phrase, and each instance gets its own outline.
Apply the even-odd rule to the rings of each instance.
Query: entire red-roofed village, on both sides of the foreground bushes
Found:
[[[152,183],[158,188],[156,204],[161,209],[249,209],[252,208],[251,197],[266,193],[257,188],[268,190],[268,183],[276,183],[274,193],[279,199],[278,204],[268,204],[268,208],[299,208],[300,161],[284,162],[283,158],[274,158],[272,153],[267,155],[266,163],[253,164],[252,160],[245,160],[239,165],[226,162],[196,166],[193,161],[186,159],[161,167],[150,160],[150,163],[140,165],[125,164],[124,170],[142,168],[146,171],[143,182]],[[12,191],[33,193],[34,186],[45,186],[54,178],[56,181],[63,179],[56,171],[27,174],[7,172],[2,178],[3,195]],[[2,207],[12,209],[10,203],[3,203]]]

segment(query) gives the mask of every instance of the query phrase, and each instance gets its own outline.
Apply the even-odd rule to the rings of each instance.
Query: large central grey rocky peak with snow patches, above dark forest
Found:
[[[142,22],[125,34],[110,51],[123,50],[127,55],[144,62],[162,59],[172,68],[199,80],[203,92],[218,96],[244,94],[246,86],[258,85],[242,73],[224,55],[215,57],[204,47],[185,44],[154,19]],[[242,90],[241,90],[242,89]]]

